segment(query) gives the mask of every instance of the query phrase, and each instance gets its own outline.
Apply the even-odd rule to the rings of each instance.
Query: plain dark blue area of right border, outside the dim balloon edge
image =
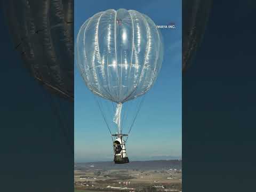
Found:
[[[255,1],[213,1],[182,76],[182,191],[255,191]]]

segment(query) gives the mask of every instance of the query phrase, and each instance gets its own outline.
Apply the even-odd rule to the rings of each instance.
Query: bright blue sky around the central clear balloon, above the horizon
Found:
[[[75,1],[74,36],[95,13],[107,9],[137,10],[161,29],[164,60],[127,142],[130,161],[181,157],[181,1]],[[76,62],[76,60],[75,60]],[[75,162],[113,161],[111,138],[94,95],[85,86],[75,63]],[[142,143],[139,148],[137,143]],[[93,146],[93,147],[92,147]]]

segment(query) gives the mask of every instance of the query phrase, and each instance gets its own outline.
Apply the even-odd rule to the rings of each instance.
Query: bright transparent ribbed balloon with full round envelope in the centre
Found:
[[[87,87],[121,104],[151,88],[163,60],[160,31],[149,17],[134,10],[93,15],[80,28],[76,46],[78,68]]]

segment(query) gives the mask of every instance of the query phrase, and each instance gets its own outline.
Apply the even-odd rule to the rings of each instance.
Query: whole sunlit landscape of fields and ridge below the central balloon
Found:
[[[75,163],[75,192],[182,191],[182,161]]]

